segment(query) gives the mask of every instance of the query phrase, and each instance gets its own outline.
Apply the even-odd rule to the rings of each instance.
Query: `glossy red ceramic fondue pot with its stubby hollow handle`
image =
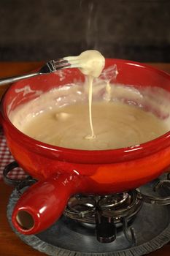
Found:
[[[170,91],[170,75],[165,72],[131,61],[106,60],[106,67],[113,64],[119,72],[117,83]],[[134,148],[85,151],[39,142],[9,121],[10,111],[38,97],[36,90],[45,92],[74,80],[84,80],[78,69],[69,69],[63,79],[56,73],[22,80],[13,84],[1,101],[1,124],[9,150],[19,165],[38,179],[13,211],[12,222],[20,233],[39,233],[52,225],[73,194],[102,195],[134,189],[160,176],[170,164],[170,132]],[[24,86],[30,86],[31,91],[24,92]],[[25,217],[31,222],[23,226]]]

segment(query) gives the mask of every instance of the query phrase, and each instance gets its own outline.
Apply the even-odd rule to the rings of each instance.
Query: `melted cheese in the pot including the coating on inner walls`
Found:
[[[169,131],[167,91],[153,87],[139,91],[122,84],[109,84],[108,91],[106,86],[101,80],[93,84],[92,118],[96,135],[93,140],[86,138],[90,125],[88,89],[84,83],[42,93],[12,110],[9,119],[31,138],[86,150],[136,146]]]

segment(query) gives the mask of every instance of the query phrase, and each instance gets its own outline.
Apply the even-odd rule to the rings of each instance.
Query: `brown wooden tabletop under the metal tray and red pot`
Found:
[[[0,77],[9,75],[23,74],[40,67],[43,62],[0,62]],[[163,69],[170,73],[170,64],[152,64],[154,67]],[[0,96],[7,89],[7,86],[0,86]],[[0,160],[1,161],[1,160]],[[8,198],[12,192],[12,187],[9,187],[0,181],[0,256],[40,256],[44,255],[37,252],[30,246],[20,241],[20,238],[12,232],[6,217],[6,208]],[[156,252],[151,252],[150,256],[169,256],[170,244],[163,246]]]

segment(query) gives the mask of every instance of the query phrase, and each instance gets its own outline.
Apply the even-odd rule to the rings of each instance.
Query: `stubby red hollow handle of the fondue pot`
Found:
[[[25,235],[42,232],[61,217],[69,197],[80,187],[77,174],[55,174],[29,187],[18,200],[12,223]]]

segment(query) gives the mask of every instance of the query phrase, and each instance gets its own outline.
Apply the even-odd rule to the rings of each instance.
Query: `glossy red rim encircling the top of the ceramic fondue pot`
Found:
[[[109,60],[109,59],[107,59]],[[113,60],[113,59],[112,59]],[[115,62],[122,62],[123,64],[134,65],[137,67],[142,67],[152,70],[152,72],[159,73],[161,76],[165,76],[169,79],[170,75],[166,72],[163,72],[155,67],[150,67],[147,64],[141,64],[135,61],[127,61],[123,59],[114,59]],[[170,84],[170,83],[169,83]],[[13,85],[17,85],[14,83]],[[28,137],[28,135],[20,132],[9,120],[7,116],[7,109],[5,107],[5,102],[12,90],[12,86],[7,89],[4,96],[1,99],[1,121],[2,125],[7,127],[9,132],[12,132],[13,136],[15,135],[18,143],[22,145],[26,143],[26,147],[30,148],[31,151],[36,151],[39,154],[45,155],[45,157],[58,158],[58,160],[66,162],[78,162],[86,164],[100,164],[100,163],[114,163],[114,162],[124,162],[132,159],[138,159],[141,157],[147,157],[150,154],[154,154],[158,151],[161,151],[164,148],[170,146],[170,132],[166,132],[164,135],[161,135],[154,140],[150,140],[146,143],[142,143],[137,146],[129,146],[126,148],[116,148],[116,149],[107,149],[107,150],[80,150],[72,148],[62,148],[59,146],[52,146],[47,143],[40,142],[33,138]]]

